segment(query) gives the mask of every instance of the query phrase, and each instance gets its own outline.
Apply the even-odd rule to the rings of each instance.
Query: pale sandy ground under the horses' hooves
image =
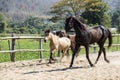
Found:
[[[90,59],[95,62],[96,54]],[[109,52],[106,63],[101,56],[95,67],[90,67],[85,55],[75,60],[71,69],[66,58],[62,63],[48,64],[48,60],[29,60],[0,63],[0,80],[120,80],[120,52]]]

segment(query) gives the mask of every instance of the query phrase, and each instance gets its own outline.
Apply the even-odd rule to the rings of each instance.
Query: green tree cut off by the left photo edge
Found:
[[[0,33],[4,32],[7,27],[6,16],[0,13]]]

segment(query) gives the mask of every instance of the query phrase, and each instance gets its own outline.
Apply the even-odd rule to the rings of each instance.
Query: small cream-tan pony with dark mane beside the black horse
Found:
[[[46,40],[50,40],[50,59],[49,59],[49,63],[51,63],[51,60],[53,60],[52,54],[55,52],[55,50],[58,51],[63,51],[63,55],[61,57],[61,59],[64,57],[64,55],[69,55],[69,53],[67,52],[71,42],[69,40],[69,38],[67,37],[62,37],[59,38],[58,36],[54,35],[50,29],[45,31],[45,41]],[[60,61],[61,61],[60,59]]]

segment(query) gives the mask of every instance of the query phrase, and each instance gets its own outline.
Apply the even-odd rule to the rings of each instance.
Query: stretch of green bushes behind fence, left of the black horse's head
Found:
[[[62,30],[63,22],[59,21],[53,23],[45,18],[29,17],[22,23],[9,23],[9,28],[6,29],[7,33],[17,34],[40,34],[43,35],[44,31],[48,28],[52,30]]]

